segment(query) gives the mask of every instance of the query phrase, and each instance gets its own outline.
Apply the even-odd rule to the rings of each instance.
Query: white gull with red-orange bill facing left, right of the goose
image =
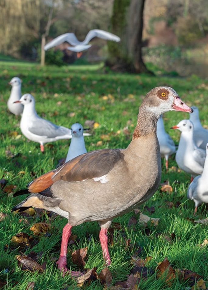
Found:
[[[181,131],[179,147],[175,155],[178,166],[193,177],[202,174],[206,151],[197,147],[193,138],[194,126],[190,120],[182,120],[172,129]]]

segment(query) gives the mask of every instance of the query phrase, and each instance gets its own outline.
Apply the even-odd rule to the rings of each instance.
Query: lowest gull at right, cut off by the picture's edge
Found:
[[[208,143],[206,144],[206,159],[203,173],[195,177],[189,185],[187,197],[195,202],[194,215],[199,204],[203,202],[208,203]]]

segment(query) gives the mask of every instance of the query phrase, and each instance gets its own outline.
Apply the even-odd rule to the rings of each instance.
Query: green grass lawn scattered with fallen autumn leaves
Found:
[[[208,125],[207,120],[207,87],[208,82],[197,76],[180,77],[150,77],[149,75],[117,74],[105,71],[102,66],[64,66],[61,68],[48,66],[41,68],[36,63],[21,63],[4,61],[0,63],[0,113],[1,113],[1,145],[0,145],[0,179],[5,178],[7,185],[16,185],[16,190],[25,188],[29,181],[57,166],[58,160],[65,157],[68,151],[68,140],[52,143],[52,147],[45,147],[45,154],[40,154],[39,144],[27,141],[19,129],[20,118],[16,118],[7,110],[6,101],[9,98],[10,87],[8,82],[14,76],[23,80],[22,93],[32,93],[36,99],[36,111],[40,116],[66,127],[75,122],[84,124],[85,120],[95,120],[100,124],[92,130],[92,136],[85,137],[88,151],[99,148],[126,148],[131,136],[123,134],[123,127],[129,123],[132,133],[137,121],[138,107],[144,95],[153,87],[167,85],[173,87],[182,99],[189,105],[198,106],[202,124]],[[58,94],[58,95],[57,95]],[[132,95],[129,95],[132,94]],[[103,96],[109,96],[104,100]],[[113,97],[113,98],[112,98]],[[57,102],[61,101],[61,104]],[[56,112],[55,112],[56,111]],[[55,113],[54,113],[55,112]],[[70,117],[70,113],[75,115]],[[169,112],[164,116],[165,128],[176,144],[179,141],[179,132],[169,130],[180,120],[188,118],[187,113]],[[121,130],[120,134],[114,134]],[[12,137],[11,132],[21,134],[19,139]],[[102,146],[96,147],[102,134],[109,134],[110,141],[103,141]],[[16,157],[10,158],[6,154],[10,150]],[[19,153],[19,155],[17,155]],[[176,166],[174,156],[169,159],[169,167]],[[151,217],[159,217],[157,227],[149,226],[150,235],[147,235],[140,224],[127,227],[129,218],[134,215],[130,212],[114,221],[121,224],[121,229],[114,231],[114,243],[109,245],[112,264],[109,267],[113,275],[112,285],[116,281],[126,280],[127,274],[133,265],[130,257],[137,246],[143,251],[141,257],[152,256],[147,267],[155,269],[157,263],[165,256],[173,268],[186,268],[208,278],[208,254],[206,247],[201,249],[198,244],[208,237],[207,227],[194,224],[186,218],[193,218],[194,203],[187,200],[186,191],[189,185],[188,174],[177,172],[174,169],[165,171],[162,160],[161,181],[169,180],[173,187],[171,194],[159,190],[143,204],[142,213]],[[25,171],[21,174],[20,171]],[[62,228],[67,220],[59,216],[51,221],[46,214],[27,218],[29,224],[19,222],[19,214],[10,213],[12,206],[23,197],[12,199],[11,195],[1,191],[0,212],[7,213],[7,217],[0,222],[0,281],[6,282],[4,289],[26,289],[28,282],[34,281],[34,289],[77,289],[76,283],[70,276],[61,277],[55,260],[59,256]],[[168,208],[167,201],[174,204],[179,201],[178,207]],[[155,212],[150,214],[144,206],[154,206]],[[139,218],[136,216],[137,219]],[[206,218],[204,205],[200,206],[194,219]],[[51,223],[50,236],[42,236],[39,243],[32,249],[12,249],[10,240],[13,235],[25,232],[32,235],[31,225],[39,221]],[[176,238],[168,242],[164,237],[175,233]],[[77,270],[73,265],[70,253],[72,250],[88,246],[88,260],[85,268],[97,267],[99,273],[103,269],[103,259],[99,244],[99,226],[97,223],[85,223],[74,227],[77,241],[68,247],[68,267]],[[159,234],[159,235],[158,235]],[[126,249],[126,240],[131,239],[133,249]],[[7,246],[8,245],[8,246]],[[46,262],[43,274],[21,270],[15,256],[22,251],[28,254],[31,251],[40,253],[38,263]],[[8,269],[8,273],[5,273]],[[3,272],[1,272],[3,271]],[[140,289],[185,289],[186,281],[181,282],[178,277],[172,286],[165,285],[164,281],[156,278],[156,274],[142,280]],[[103,289],[99,281],[93,282],[85,289]]]

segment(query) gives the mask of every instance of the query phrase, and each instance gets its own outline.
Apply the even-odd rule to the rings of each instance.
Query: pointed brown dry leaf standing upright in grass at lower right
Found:
[[[167,257],[158,264],[158,271],[157,271],[158,278],[165,280],[165,282],[171,286],[173,279],[175,279],[175,272],[168,261]]]

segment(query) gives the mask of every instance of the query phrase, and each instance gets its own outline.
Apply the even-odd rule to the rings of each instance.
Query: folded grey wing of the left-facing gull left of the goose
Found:
[[[32,127],[28,130],[38,136],[46,136],[48,138],[56,138],[62,135],[71,135],[71,130],[62,126],[57,126],[50,121],[44,119],[37,119],[33,121]]]

